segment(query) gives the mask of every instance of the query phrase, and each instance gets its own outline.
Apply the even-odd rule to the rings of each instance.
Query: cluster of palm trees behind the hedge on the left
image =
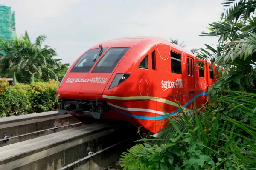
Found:
[[[23,37],[13,37],[12,40],[0,41],[0,61],[2,74],[14,72],[26,73],[34,82],[34,75],[42,76],[44,73],[48,78],[58,80],[52,68],[59,68],[58,63],[52,57],[57,56],[55,49],[48,45],[41,47],[46,39],[45,35],[39,35],[35,43],[31,43],[27,31]]]

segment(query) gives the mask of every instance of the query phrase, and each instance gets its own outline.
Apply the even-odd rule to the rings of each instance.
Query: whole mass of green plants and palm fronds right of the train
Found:
[[[194,51],[219,66],[219,79],[209,88],[211,102],[200,115],[196,107],[195,115],[182,108],[182,117],[166,114],[159,138],[142,139],[144,146],[122,154],[124,169],[256,169],[256,0],[222,4],[221,21],[210,23],[210,32],[201,35],[219,37],[218,45]]]

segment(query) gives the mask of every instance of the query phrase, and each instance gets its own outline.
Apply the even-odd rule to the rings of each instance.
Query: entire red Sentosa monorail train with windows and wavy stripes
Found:
[[[198,69],[195,62],[204,62]],[[57,94],[59,114],[116,119],[156,133],[182,107],[206,102],[217,69],[190,51],[158,37],[128,37],[97,44],[68,69]],[[176,101],[175,101],[176,100]],[[200,108],[199,108],[200,109]]]

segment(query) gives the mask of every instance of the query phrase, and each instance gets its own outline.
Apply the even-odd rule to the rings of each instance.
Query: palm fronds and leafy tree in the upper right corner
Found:
[[[215,53],[214,64],[225,72],[219,70],[222,76],[215,90],[256,92],[256,0],[223,0],[222,4],[221,21],[210,23],[210,32],[201,34],[219,37],[211,52]]]

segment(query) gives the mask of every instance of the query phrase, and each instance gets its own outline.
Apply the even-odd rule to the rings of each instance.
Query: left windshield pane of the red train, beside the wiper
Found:
[[[102,53],[107,48],[103,48]],[[99,53],[99,48],[88,50],[84,55],[76,62],[74,67],[71,69],[70,72],[84,72],[87,73],[92,68],[94,62],[96,62],[99,59],[99,56],[97,57]],[[97,57],[97,58],[96,58]],[[96,61],[93,62],[93,60],[96,59]]]

